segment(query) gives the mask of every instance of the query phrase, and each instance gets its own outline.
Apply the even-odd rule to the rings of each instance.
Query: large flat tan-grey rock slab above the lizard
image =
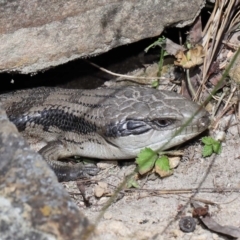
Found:
[[[194,21],[204,0],[0,1],[0,72],[35,73]]]

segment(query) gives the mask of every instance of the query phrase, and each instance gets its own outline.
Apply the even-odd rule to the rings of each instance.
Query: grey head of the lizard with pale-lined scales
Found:
[[[210,124],[206,110],[174,92],[129,87],[115,96],[104,112],[103,137],[126,157],[145,147],[160,151],[181,144]]]

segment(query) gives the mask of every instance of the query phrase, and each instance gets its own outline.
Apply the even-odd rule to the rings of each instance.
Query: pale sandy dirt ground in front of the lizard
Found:
[[[221,120],[224,127],[227,117]],[[140,180],[140,190],[123,191],[119,200],[112,202],[96,224],[94,239],[230,239],[211,232],[197,221],[194,232],[184,233],[179,229],[179,219],[192,215],[190,198],[199,200],[202,206],[209,205],[212,218],[221,225],[240,227],[240,140],[239,124],[232,125],[222,144],[222,153],[209,158],[201,156],[202,145],[199,138],[190,142],[185,149],[184,160],[174,170],[174,174],[161,179],[154,174]],[[221,126],[219,129],[221,129]],[[206,135],[207,133],[205,133]],[[103,164],[106,167],[97,182],[107,183],[109,192],[116,190],[126,175],[134,169],[129,162],[119,166],[116,163]],[[86,187],[86,195],[91,203],[86,207],[75,182],[64,183],[67,191],[92,223],[102,213],[109,197],[94,197],[96,183]],[[160,190],[194,190],[198,193],[163,194]],[[125,192],[125,193],[124,193]],[[76,194],[73,194],[76,193]]]

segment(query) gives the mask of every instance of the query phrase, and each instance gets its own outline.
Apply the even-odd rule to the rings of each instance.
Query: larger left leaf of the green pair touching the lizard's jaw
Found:
[[[149,172],[153,168],[157,156],[157,153],[155,153],[151,148],[142,149],[136,158],[138,172],[140,174]]]

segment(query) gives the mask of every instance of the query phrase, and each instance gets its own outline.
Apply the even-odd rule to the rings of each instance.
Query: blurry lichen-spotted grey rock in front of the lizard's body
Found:
[[[0,238],[84,239],[90,227],[0,108]]]

